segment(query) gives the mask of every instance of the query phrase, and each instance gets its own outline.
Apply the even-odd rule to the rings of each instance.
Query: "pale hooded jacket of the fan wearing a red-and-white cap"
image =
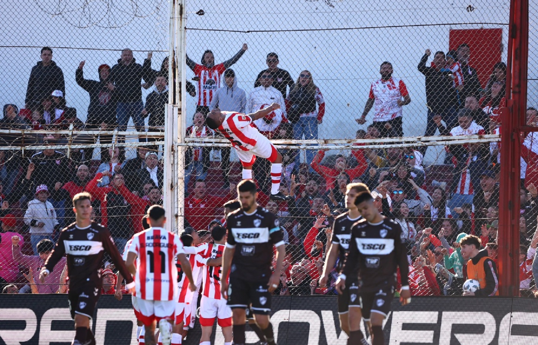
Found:
[[[38,226],[43,223],[43,226]],[[30,226],[32,235],[51,235],[54,228],[59,225],[56,219],[56,211],[51,202],[33,199],[28,202],[28,209],[24,213],[24,224]]]

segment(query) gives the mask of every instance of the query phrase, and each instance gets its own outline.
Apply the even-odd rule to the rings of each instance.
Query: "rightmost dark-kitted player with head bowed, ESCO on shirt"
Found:
[[[396,284],[397,267],[400,268],[402,287],[400,302],[410,302],[405,238],[400,225],[379,213],[368,187],[359,183],[355,205],[363,219],[353,225],[349,241],[349,253],[344,262],[342,273],[336,282],[336,290],[342,294],[346,286],[346,277],[357,277],[360,273],[362,285],[359,289],[361,310],[349,319],[349,345],[368,344],[360,330],[360,319],[371,325],[372,345],[384,345],[383,320],[391,311]],[[350,315],[351,316],[351,315]]]

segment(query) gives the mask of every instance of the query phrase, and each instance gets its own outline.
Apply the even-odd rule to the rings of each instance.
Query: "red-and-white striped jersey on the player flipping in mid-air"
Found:
[[[249,151],[256,146],[260,132],[254,127],[252,118],[242,113],[223,111],[225,115],[222,125],[217,131],[232,143],[236,149]]]

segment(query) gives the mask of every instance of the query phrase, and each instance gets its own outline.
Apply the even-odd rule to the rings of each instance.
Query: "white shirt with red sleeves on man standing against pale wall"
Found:
[[[374,99],[374,121],[388,121],[402,116],[398,99],[409,95],[401,79],[391,77],[387,81],[374,81],[370,87],[370,98]]]

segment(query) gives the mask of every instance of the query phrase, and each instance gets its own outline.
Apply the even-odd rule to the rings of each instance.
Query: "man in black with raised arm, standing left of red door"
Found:
[[[428,122],[424,135],[435,135],[436,125],[433,118],[440,115],[448,128],[456,126],[456,92],[452,87],[453,79],[451,71],[445,69],[445,55],[443,52],[436,52],[431,67],[426,67],[430,49],[426,49],[419,62],[420,73],[426,76],[426,103],[428,106]],[[424,147],[426,152],[426,147]],[[422,154],[424,154],[422,152]]]

